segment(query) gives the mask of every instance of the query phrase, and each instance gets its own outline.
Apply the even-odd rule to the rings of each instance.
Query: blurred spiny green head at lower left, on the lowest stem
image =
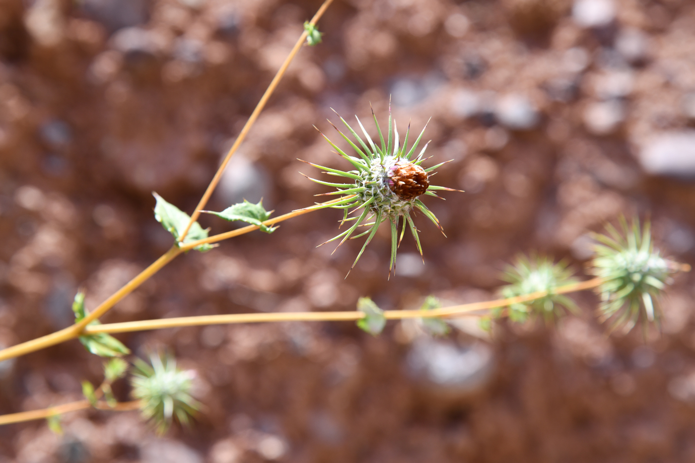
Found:
[[[152,366],[140,359],[133,362],[136,371],[131,377],[133,398],[140,400],[140,412],[147,420],[152,420],[157,431],[163,434],[176,416],[181,424],[188,424],[199,404],[190,395],[195,372],[182,371],[176,361],[159,355],[149,357]]]

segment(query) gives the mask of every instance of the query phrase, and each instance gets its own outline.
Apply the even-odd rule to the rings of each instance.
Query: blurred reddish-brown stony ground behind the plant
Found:
[[[151,192],[193,211],[320,3],[280,0],[0,1],[0,344],[70,325],[172,243]],[[379,231],[337,234],[341,211],[282,222],[181,256],[104,323],[248,311],[382,309],[494,298],[518,252],[582,275],[590,232],[651,219],[657,245],[693,263],[695,4],[687,0],[336,0],[208,209],[263,197],[276,214],[328,188],[297,161],[346,165],[312,127],[370,104],[420,131],[444,193],[425,202],[425,263],[404,238],[387,280]],[[348,117],[349,116],[349,117]],[[345,146],[340,143],[339,146]],[[234,225],[203,216],[204,227]],[[65,415],[0,428],[0,461],[689,462],[695,459],[692,275],[664,298],[662,334],[607,336],[597,298],[555,327],[492,334],[476,320],[444,339],[389,323],[191,327],[117,336],[167,348],[197,371],[205,408],[156,437],[136,412]],[[77,341],[0,364],[0,412],[81,398],[101,360]],[[126,384],[115,393],[128,400]]]

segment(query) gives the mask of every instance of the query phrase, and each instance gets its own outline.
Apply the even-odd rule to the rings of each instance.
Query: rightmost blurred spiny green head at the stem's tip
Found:
[[[623,325],[629,331],[637,322],[658,321],[654,297],[683,266],[654,249],[648,222],[642,229],[637,219],[632,226],[625,218],[620,222],[622,233],[607,225],[607,235],[594,236],[599,243],[594,248],[591,273],[605,280],[598,287],[601,318],[614,317],[612,330]]]

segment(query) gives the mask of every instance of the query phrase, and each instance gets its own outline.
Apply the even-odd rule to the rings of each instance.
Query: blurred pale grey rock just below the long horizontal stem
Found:
[[[467,394],[484,387],[494,365],[492,349],[484,343],[457,346],[452,341],[421,337],[407,356],[409,373],[437,388]]]

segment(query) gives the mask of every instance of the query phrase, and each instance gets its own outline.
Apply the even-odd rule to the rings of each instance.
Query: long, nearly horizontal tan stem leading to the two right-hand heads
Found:
[[[580,282],[559,287],[555,294],[572,293],[584,289],[596,288],[603,282],[603,279],[594,278],[587,282]],[[536,293],[516,296],[514,298],[489,300],[484,302],[473,302],[471,304],[461,304],[451,307],[443,307],[433,310],[387,310],[384,317],[389,320],[400,320],[404,318],[435,318],[435,317],[456,317],[456,316],[480,316],[475,312],[494,309],[496,307],[507,307],[511,304],[529,302],[534,299],[543,298],[548,295],[547,291],[537,291]],[[287,322],[287,321],[354,321],[363,318],[364,314],[360,311],[336,311],[336,312],[271,312],[263,314],[227,314],[227,315],[206,315],[179,318],[163,318],[160,320],[141,320],[124,323],[107,323],[106,325],[92,325],[85,328],[85,333],[124,333],[145,330],[161,330],[163,328],[186,327],[198,325],[228,325],[233,323],[268,323],[268,322]]]

